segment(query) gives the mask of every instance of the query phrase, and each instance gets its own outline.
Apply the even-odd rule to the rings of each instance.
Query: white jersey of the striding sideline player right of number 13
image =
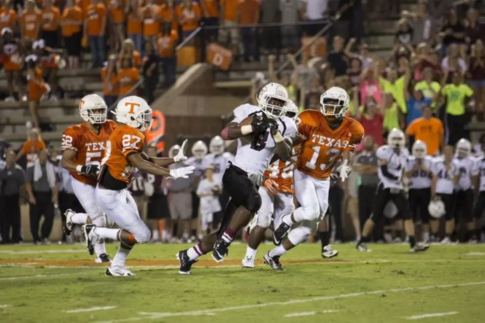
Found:
[[[399,153],[389,147],[388,145],[381,146],[376,151],[376,156],[379,160],[385,160],[387,162],[387,168],[389,174],[397,177],[397,180],[391,180],[384,176],[382,173],[382,168],[379,167],[377,175],[379,180],[384,185],[384,188],[399,188],[403,189],[402,186],[402,171],[406,168],[406,162],[409,157],[409,151],[405,148],[401,149]]]

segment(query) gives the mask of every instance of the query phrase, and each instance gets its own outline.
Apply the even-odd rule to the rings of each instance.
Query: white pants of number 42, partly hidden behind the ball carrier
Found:
[[[259,227],[268,228],[274,216],[276,228],[282,215],[291,214],[294,211],[292,194],[278,192],[276,195],[270,195],[264,186],[260,186],[258,192],[261,195],[261,207],[256,213]]]

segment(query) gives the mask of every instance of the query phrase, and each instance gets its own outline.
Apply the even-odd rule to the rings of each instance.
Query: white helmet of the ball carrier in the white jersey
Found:
[[[285,115],[288,103],[288,92],[278,83],[265,85],[258,94],[259,107],[270,118],[280,118]]]

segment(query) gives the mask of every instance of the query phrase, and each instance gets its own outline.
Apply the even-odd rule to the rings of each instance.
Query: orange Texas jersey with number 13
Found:
[[[364,137],[364,128],[349,117],[343,117],[333,130],[325,116],[317,110],[305,110],[296,120],[298,133],[306,138],[301,144],[296,169],[319,180],[332,174],[344,151],[353,151]]]

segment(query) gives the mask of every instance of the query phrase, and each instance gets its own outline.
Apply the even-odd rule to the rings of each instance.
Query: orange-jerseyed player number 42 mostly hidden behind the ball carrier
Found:
[[[288,101],[285,115],[292,120],[296,120],[297,114],[298,108],[296,105],[291,100]],[[293,151],[293,156],[295,155],[295,151]],[[244,268],[254,268],[256,249],[264,240],[264,233],[270,227],[271,220],[273,219],[276,227],[280,223],[280,217],[283,214],[290,214],[294,211],[294,163],[295,160],[293,158],[287,162],[279,159],[272,163],[263,174],[265,181],[258,190],[261,196],[261,208],[255,215],[256,226],[249,233],[246,255],[242,259],[241,264]]]

